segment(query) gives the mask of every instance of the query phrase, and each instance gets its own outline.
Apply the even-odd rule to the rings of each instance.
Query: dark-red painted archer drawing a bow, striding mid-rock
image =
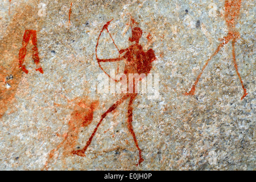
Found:
[[[104,29],[106,29],[108,31],[108,25],[109,25],[110,22],[111,22],[111,20],[104,25],[104,27],[102,28],[102,31]],[[101,33],[102,33],[102,31],[101,31]],[[150,70],[151,70],[152,61],[156,60],[155,53],[152,49],[149,49],[147,52],[144,52],[141,44],[139,44],[139,39],[142,36],[141,28],[131,27],[131,32],[132,32],[132,36],[129,38],[129,41],[133,42],[134,44],[132,44],[130,47],[128,47],[126,49],[121,49],[119,51],[120,54],[124,53],[123,56],[119,56],[118,58],[114,58],[114,59],[98,59],[98,57],[97,57],[98,41],[97,41],[97,46],[96,46],[96,58],[97,58],[98,63],[99,62],[121,61],[123,59],[126,59],[124,74],[126,75],[127,78],[128,78],[129,73],[133,73],[133,74],[134,73],[138,73],[138,74],[144,73],[145,75],[147,75],[147,73],[149,73]],[[100,35],[101,35],[101,33],[100,33]],[[111,36],[111,34],[110,34],[110,36]],[[99,38],[100,38],[100,36],[99,36]],[[111,38],[112,38],[112,36],[111,36]],[[102,71],[103,71],[103,69],[102,69]],[[133,88],[135,88],[135,84],[137,84],[137,82],[133,82]],[[137,166],[139,164],[141,164],[141,162],[143,162],[143,160],[144,160],[143,157],[142,157],[142,150],[141,150],[141,148],[139,148],[138,140],[135,136],[135,133],[134,133],[134,130],[133,130],[133,125],[132,125],[132,122],[133,122],[133,102],[134,102],[136,96],[137,96],[137,93],[129,93],[128,92],[124,96],[122,96],[122,98],[120,98],[117,102],[115,102],[115,104],[113,104],[104,114],[101,115],[100,122],[98,122],[98,124],[97,124],[96,128],[94,129],[92,135],[88,139],[88,142],[86,143],[85,147],[82,148],[82,150],[73,151],[73,154],[76,154],[76,155],[79,155],[79,156],[85,156],[85,154],[84,154],[85,151],[87,150],[88,146],[92,142],[92,139],[93,139],[94,135],[96,134],[96,131],[97,131],[98,127],[101,125],[101,122],[106,117],[106,115],[108,115],[113,110],[115,110],[117,108],[117,106],[122,104],[122,102],[124,102],[125,100],[130,98],[129,105],[128,105],[127,127],[129,129],[131,135],[133,136],[135,146],[137,147],[137,149],[139,151],[139,160],[138,160]]]

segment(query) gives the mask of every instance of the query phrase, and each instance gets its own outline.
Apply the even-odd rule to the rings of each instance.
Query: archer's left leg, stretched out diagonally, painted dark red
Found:
[[[90,136],[89,140],[87,141],[86,146],[84,148],[82,148],[82,150],[72,151],[72,154],[79,155],[79,156],[85,156],[84,152],[87,150],[88,146],[92,142],[92,139],[93,139],[94,135],[96,134],[98,126],[100,126],[102,120],[106,117],[106,115],[108,115],[113,110],[115,110],[115,108],[117,108],[118,105],[122,104],[122,102],[125,101],[128,97],[129,97],[129,94],[126,94],[121,99],[119,99],[117,102],[115,102],[115,104],[113,104],[104,114],[101,115],[101,120],[100,120],[100,122],[98,122],[98,125],[96,126],[92,135]]]

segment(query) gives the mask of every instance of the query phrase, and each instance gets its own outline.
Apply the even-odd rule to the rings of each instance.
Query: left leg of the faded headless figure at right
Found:
[[[207,62],[205,63],[205,65],[204,65],[202,71],[200,72],[199,76],[197,76],[196,81],[195,81],[195,83],[193,84],[191,90],[190,90],[189,92],[184,93],[185,96],[192,96],[192,95],[195,94],[196,84],[199,82],[199,79],[200,79],[201,75],[203,74],[204,69],[207,67],[209,61],[210,61],[215,55],[217,55],[217,53],[220,51],[220,49],[221,49],[225,44],[227,44],[227,43],[229,42],[229,40],[232,39],[232,38],[233,38],[232,35],[231,35],[231,34],[228,34],[227,36],[225,36],[224,39],[222,39],[222,42],[218,45],[216,51],[212,54],[212,56],[210,56],[210,58],[209,58],[209,59],[207,60]]]

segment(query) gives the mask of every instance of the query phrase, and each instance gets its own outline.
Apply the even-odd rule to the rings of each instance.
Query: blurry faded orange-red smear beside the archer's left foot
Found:
[[[76,102],[75,108],[71,113],[71,120],[68,122],[68,132],[63,135],[62,142],[49,152],[48,160],[43,170],[48,169],[48,164],[52,162],[56,152],[59,153],[61,147],[63,148],[63,156],[70,155],[76,147],[81,128],[90,125],[93,121],[94,110],[98,106],[98,101],[88,102],[86,99]]]

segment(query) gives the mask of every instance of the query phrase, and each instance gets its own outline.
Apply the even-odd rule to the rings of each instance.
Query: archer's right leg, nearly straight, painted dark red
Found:
[[[130,98],[130,102],[129,102],[129,105],[128,105],[128,120],[127,120],[127,123],[128,123],[128,129],[131,133],[131,135],[133,135],[133,140],[134,140],[134,143],[135,143],[135,146],[138,148],[138,151],[139,151],[139,162],[137,164],[137,166],[139,164],[141,164],[143,162],[143,158],[142,158],[142,155],[141,155],[141,148],[139,148],[139,144],[138,144],[138,141],[136,139],[136,136],[135,136],[135,133],[133,131],[133,125],[131,122],[133,122],[133,101],[135,99],[135,97],[137,96],[137,94],[133,94],[133,96],[131,96]]]

